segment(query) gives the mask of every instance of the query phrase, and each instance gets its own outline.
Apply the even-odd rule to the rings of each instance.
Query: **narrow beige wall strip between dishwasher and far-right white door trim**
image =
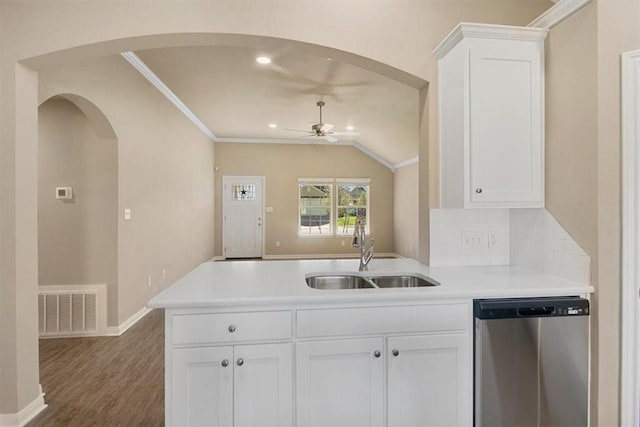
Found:
[[[598,412],[619,425],[620,358],[620,55],[640,49],[637,0],[597,2],[598,49]]]

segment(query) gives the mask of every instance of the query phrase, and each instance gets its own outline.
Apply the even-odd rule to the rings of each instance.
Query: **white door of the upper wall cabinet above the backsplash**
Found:
[[[543,121],[535,45],[474,47],[468,68],[469,206],[542,206]]]

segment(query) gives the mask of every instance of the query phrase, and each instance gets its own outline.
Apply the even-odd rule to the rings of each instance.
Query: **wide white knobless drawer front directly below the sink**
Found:
[[[323,337],[414,332],[465,332],[466,304],[312,309],[297,312],[298,336]]]

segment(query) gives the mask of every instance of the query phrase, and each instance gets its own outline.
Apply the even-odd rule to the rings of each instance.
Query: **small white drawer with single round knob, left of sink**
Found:
[[[292,335],[290,311],[176,314],[171,344],[207,344],[286,339]]]

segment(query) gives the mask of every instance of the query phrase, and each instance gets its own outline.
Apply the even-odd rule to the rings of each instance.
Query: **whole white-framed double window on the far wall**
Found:
[[[369,179],[299,179],[298,235],[302,237],[351,235],[357,218],[363,219],[368,233],[369,188]]]

